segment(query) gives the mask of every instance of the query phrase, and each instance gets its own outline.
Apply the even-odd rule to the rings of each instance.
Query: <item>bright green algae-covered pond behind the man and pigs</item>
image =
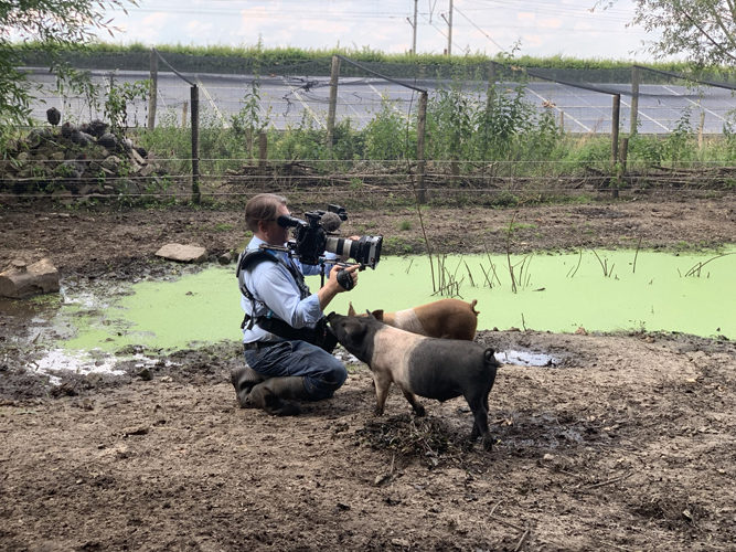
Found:
[[[510,268],[511,266],[511,268]],[[736,247],[704,255],[593,251],[527,256],[384,257],[328,311],[406,309],[442,297],[477,299],[479,329],[574,332],[664,330],[736,339]],[[512,280],[513,272],[513,280]],[[307,278],[312,291],[318,276]],[[489,285],[490,284],[490,285]],[[515,288],[515,289],[514,289]],[[235,267],[205,267],[132,284],[104,302],[65,291],[55,321],[67,351],[125,346],[181,349],[238,340],[243,311]]]

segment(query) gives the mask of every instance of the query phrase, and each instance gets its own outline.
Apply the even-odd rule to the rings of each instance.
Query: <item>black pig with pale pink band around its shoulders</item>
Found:
[[[370,314],[332,312],[327,319],[340,344],[371,368],[376,416],[383,414],[391,382],[401,388],[417,416],[424,416],[425,410],[416,395],[440,402],[462,395],[474,418],[470,440],[481,435],[486,450],[491,449],[488,394],[500,365],[493,349],[473,341],[418,336],[380,322]]]

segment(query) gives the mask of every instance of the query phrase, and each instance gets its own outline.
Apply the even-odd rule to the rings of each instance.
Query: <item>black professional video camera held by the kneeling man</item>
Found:
[[[328,205],[327,211],[305,213],[307,221],[281,215],[277,223],[282,229],[294,227],[295,241],[288,243],[290,255],[306,265],[320,264],[326,251],[346,255],[360,265],[376,267],[381,257],[383,236],[362,236],[360,240],[332,237],[331,233],[348,220],[348,211],[340,205]],[[323,257],[322,257],[323,259]]]

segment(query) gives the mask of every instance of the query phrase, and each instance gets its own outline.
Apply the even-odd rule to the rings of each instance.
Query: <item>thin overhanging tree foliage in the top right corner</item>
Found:
[[[617,0],[598,2],[609,8]],[[661,33],[646,41],[657,59],[685,54],[706,67],[736,62],[736,3],[733,0],[634,0],[632,24]]]

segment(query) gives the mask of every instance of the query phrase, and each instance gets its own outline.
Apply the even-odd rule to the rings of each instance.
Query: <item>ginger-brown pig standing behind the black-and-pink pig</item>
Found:
[[[477,302],[476,299],[472,302],[461,301],[460,299],[440,299],[396,312],[374,310],[371,314],[383,323],[419,336],[472,341],[476,338],[476,328],[478,327]],[[356,315],[351,302],[348,316],[365,315]]]

